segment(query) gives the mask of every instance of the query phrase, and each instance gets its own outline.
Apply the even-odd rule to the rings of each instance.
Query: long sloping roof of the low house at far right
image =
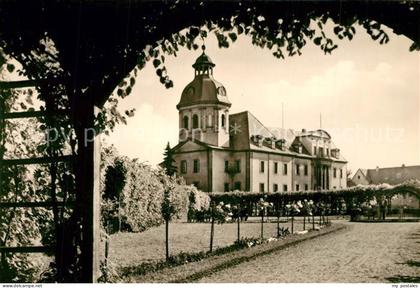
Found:
[[[396,185],[408,180],[420,180],[420,165],[368,169],[366,178],[371,184]]]

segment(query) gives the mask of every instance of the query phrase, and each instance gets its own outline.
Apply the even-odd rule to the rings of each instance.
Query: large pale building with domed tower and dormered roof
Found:
[[[248,111],[230,114],[226,88],[204,51],[182,92],[178,174],[203,191],[301,191],[346,188],[346,164],[324,130],[269,129]]]

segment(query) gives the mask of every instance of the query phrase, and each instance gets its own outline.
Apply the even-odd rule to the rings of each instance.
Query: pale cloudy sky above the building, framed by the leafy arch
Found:
[[[230,113],[248,110],[265,126],[301,130],[322,128],[358,168],[420,165],[420,53],[409,52],[411,40],[387,30],[390,42],[380,45],[357,28],[352,41],[324,55],[312,43],[301,56],[279,60],[268,49],[239,37],[228,49],[205,40],[206,53],[216,64],[213,76],[232,103]],[[149,62],[137,76],[133,92],[119,108],[135,108],[135,116],[120,125],[107,144],[119,152],[156,165],[169,141],[178,143],[178,111],[182,90],[193,80],[191,65],[201,51],[181,49],[166,57],[174,87],[159,82]],[[321,117],[320,117],[321,115]]]

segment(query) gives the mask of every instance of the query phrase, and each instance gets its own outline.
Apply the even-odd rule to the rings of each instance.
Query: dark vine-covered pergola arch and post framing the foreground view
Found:
[[[264,19],[257,19],[258,16]],[[332,19],[338,27],[334,29],[337,35],[343,31],[351,34],[349,27],[359,23],[381,44],[387,42],[380,33],[380,24],[383,24],[394,33],[410,38],[413,41],[411,50],[420,47],[420,5],[414,1],[34,0],[0,4],[1,48],[22,64],[25,76],[30,79],[29,82],[2,83],[0,88],[36,86],[46,102],[45,113],[57,114],[64,110],[70,115],[76,131],[75,206],[80,212],[83,239],[79,281],[96,281],[99,265],[96,256],[100,203],[99,143],[87,141],[90,136],[85,131],[94,127],[95,110],[104,105],[130,71],[149,58],[157,59],[153,53],[146,55],[147,48],[179,44],[195,49],[191,45],[200,37],[200,27],[206,25],[217,35],[222,47],[227,46],[224,35],[235,31],[247,33],[256,45],[268,48],[279,47],[283,41],[280,47],[289,55],[300,53],[300,48],[306,43],[304,39],[313,40],[328,53],[333,49],[332,44],[325,37],[316,37],[309,29],[310,22],[315,19],[321,19],[320,28],[324,20]],[[175,36],[187,28],[186,39]],[[282,36],[278,36],[280,34]],[[352,38],[348,35],[340,37]],[[45,41],[53,43],[57,53],[51,55],[45,49]],[[43,57],[38,57],[40,55]],[[277,54],[277,57],[281,55]],[[46,64],[51,61],[59,64],[59,68],[53,69]],[[168,84],[165,79],[162,83]],[[63,94],[67,100],[57,103]],[[20,117],[41,114],[20,114]]]

